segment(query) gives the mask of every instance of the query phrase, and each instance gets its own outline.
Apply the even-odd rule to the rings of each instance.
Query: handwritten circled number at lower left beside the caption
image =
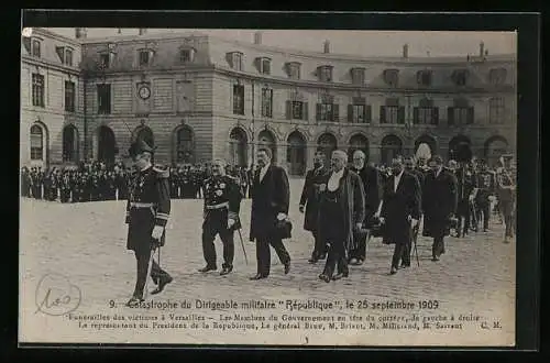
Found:
[[[75,311],[80,305],[80,288],[59,274],[44,275],[36,286],[36,311],[48,316],[62,316]]]

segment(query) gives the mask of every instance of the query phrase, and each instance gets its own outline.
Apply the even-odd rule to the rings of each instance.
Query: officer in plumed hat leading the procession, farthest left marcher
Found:
[[[152,257],[152,252],[165,243],[165,227],[170,212],[169,172],[151,164],[153,148],[143,140],[132,143],[130,156],[138,169],[130,184],[127,202],[128,250],[133,250],[138,262],[138,276],[132,298],[128,306],[143,301],[148,264],[151,277],[157,284],[151,294],[161,293],[172,276],[163,271]]]

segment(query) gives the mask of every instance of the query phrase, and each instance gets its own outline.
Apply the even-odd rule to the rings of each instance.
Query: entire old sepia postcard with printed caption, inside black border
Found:
[[[24,28],[19,341],[513,346],[516,72],[515,32]]]

